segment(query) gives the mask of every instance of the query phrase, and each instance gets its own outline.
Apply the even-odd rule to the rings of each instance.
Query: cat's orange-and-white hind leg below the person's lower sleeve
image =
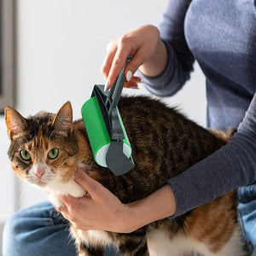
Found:
[[[209,256],[246,256],[247,247],[236,216],[236,190],[197,207],[185,219],[195,251]]]

